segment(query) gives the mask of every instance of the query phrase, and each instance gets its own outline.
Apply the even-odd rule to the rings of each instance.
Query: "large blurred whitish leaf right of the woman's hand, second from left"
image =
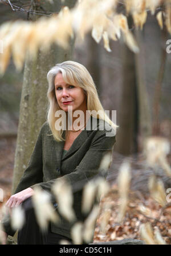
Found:
[[[39,186],[34,188],[32,203],[40,229],[47,230],[48,221],[54,223],[59,221],[59,216],[55,213],[54,207],[51,205],[50,194],[40,189]]]

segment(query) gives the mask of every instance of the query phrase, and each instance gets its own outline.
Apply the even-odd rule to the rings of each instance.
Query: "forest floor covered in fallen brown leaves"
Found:
[[[3,190],[3,202],[0,202],[0,207],[11,195],[16,141],[16,138],[0,139],[0,189]],[[118,155],[116,159],[119,159]],[[118,165],[112,165],[111,170],[115,171],[117,169],[118,171],[120,162],[118,161]],[[133,162],[135,166],[136,160]],[[111,190],[101,199],[101,210],[96,222],[93,242],[116,241],[125,238],[142,239],[140,226],[142,223],[150,222],[153,231],[158,227],[165,242],[171,244],[171,206],[168,205],[168,207],[162,209],[146,192],[147,186],[142,186],[143,182],[144,184],[147,183],[150,170],[146,170],[146,173],[143,170],[142,173],[141,169],[137,170],[135,168],[135,172],[132,172],[134,179],[132,179],[132,187],[129,192],[127,210],[123,221],[117,222],[119,213],[119,197],[116,185],[117,171],[115,171],[115,175],[113,172],[109,173],[108,179]],[[168,178],[162,175],[162,179],[166,187],[171,187],[171,182],[167,183]],[[142,206],[145,208],[142,208]],[[142,211],[142,209],[145,210]],[[108,218],[105,226],[101,227],[104,211],[108,211]]]

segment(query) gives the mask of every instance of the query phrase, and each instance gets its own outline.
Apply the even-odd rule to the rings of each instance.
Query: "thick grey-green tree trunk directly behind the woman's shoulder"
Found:
[[[68,7],[73,7],[75,2],[70,0]],[[53,9],[53,6],[48,3],[49,11],[53,9],[58,12],[59,6],[57,8],[56,3],[54,5]],[[48,6],[46,3],[46,10]],[[13,193],[27,167],[40,127],[46,121],[47,72],[56,63],[72,59],[73,47],[74,41],[71,41],[68,50],[52,45],[48,53],[39,50],[35,60],[26,59],[14,161]]]

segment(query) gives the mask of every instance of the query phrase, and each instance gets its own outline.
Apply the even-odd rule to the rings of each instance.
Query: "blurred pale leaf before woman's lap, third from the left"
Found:
[[[52,191],[58,202],[60,214],[62,214],[68,221],[74,221],[76,217],[72,207],[73,195],[71,185],[63,179],[62,181],[57,180],[54,186],[52,186]]]

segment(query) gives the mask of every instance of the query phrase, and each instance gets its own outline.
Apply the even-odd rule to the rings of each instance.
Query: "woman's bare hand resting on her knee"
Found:
[[[22,190],[21,192],[11,195],[9,200],[6,202],[6,207],[13,208],[15,206],[20,205],[24,200],[26,200],[28,197],[31,197],[34,195],[34,190],[31,189],[31,187],[28,187],[28,189]]]

